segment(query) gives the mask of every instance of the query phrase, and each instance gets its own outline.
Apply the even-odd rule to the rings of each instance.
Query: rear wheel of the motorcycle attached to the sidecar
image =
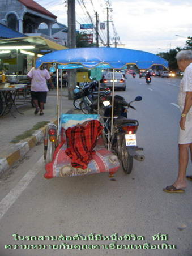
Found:
[[[125,138],[122,139],[121,163],[124,172],[126,174],[130,174],[133,169],[133,156],[130,156],[129,152],[127,151]]]

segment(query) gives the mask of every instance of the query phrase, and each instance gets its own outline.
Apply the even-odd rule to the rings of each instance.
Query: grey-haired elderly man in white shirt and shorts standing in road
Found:
[[[178,95],[178,104],[182,113],[178,139],[179,168],[177,180],[173,185],[163,189],[168,193],[184,193],[184,188],[187,186],[186,178],[192,181],[192,176],[185,177],[189,162],[189,149],[192,160],[192,50],[181,50],[177,53],[176,59],[179,69],[184,71]]]

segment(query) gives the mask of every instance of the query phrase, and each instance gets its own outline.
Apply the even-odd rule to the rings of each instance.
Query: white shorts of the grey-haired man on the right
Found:
[[[192,143],[192,118],[185,121],[185,130],[181,130],[178,136],[178,144],[190,144]]]

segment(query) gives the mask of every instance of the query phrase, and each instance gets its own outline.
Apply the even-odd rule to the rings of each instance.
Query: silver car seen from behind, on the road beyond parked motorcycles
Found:
[[[105,78],[103,79],[103,83],[105,84],[106,87],[112,87],[113,86],[113,73],[112,72],[108,72],[105,75]],[[121,72],[115,72],[114,73],[114,88],[120,88],[123,91],[126,90],[126,83],[125,83],[125,77],[123,76],[123,74]]]

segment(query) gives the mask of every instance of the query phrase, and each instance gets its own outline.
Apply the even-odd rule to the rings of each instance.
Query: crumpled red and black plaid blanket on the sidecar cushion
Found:
[[[87,168],[94,153],[93,148],[102,130],[103,126],[98,120],[91,120],[66,130],[69,148],[65,153],[71,158],[72,167]]]

